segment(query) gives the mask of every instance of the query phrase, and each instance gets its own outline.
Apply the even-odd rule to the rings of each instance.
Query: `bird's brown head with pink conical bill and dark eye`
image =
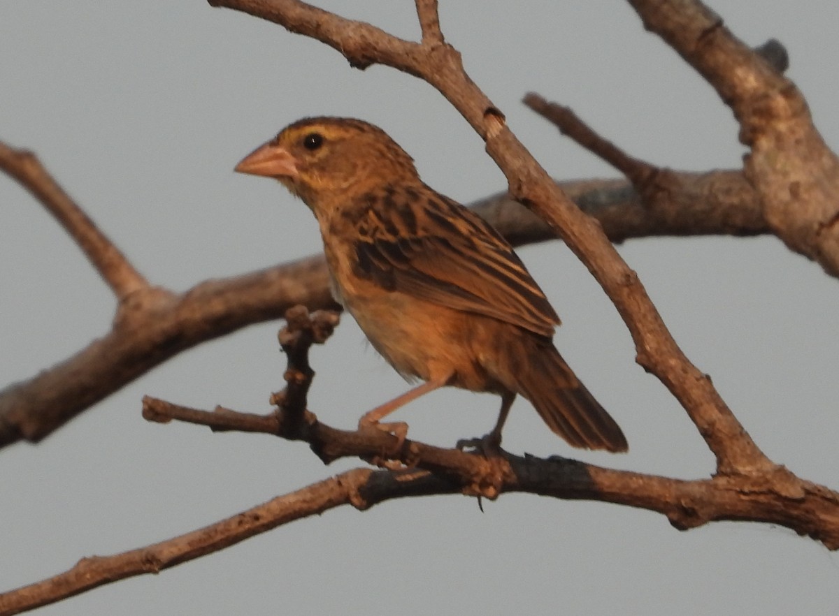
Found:
[[[237,164],[240,173],[278,179],[315,212],[378,185],[417,179],[414,161],[381,128],[361,120],[313,117],[285,127]]]

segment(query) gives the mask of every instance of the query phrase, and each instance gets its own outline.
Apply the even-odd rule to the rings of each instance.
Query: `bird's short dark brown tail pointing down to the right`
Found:
[[[515,373],[517,393],[527,398],[545,423],[574,447],[627,451],[618,423],[591,396],[550,340],[521,336],[528,347]]]

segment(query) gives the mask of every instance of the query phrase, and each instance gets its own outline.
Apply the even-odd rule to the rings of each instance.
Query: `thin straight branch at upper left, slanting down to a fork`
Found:
[[[102,279],[122,301],[129,294],[149,288],[149,282],[134,269],[117,246],[55,182],[38,158],[27,150],[15,150],[0,142],[0,169],[29,190],[55,216],[84,251]]]

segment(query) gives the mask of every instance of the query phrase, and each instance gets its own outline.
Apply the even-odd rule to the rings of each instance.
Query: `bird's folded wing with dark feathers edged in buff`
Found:
[[[357,220],[357,273],[390,291],[552,336],[560,323],[507,241],[451,199],[388,187]]]

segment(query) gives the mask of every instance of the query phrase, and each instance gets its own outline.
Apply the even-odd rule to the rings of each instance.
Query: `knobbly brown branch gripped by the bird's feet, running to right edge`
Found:
[[[154,398],[143,400],[143,416],[152,421],[175,419],[207,425],[213,430],[299,438],[297,432],[289,436],[284,415],[282,411],[268,415],[229,409],[206,412]],[[444,479],[447,492],[496,498],[516,491],[560,499],[600,500],[658,512],[680,530],[715,520],[766,522],[810,536],[831,550],[839,549],[839,494],[799,479],[782,466],[688,481],[602,468],[566,458],[519,458],[506,452],[500,458],[484,458],[409,439],[394,451],[397,439],[391,434],[337,430],[318,422],[313,415],[303,440],[325,463],[344,457],[386,456]]]

